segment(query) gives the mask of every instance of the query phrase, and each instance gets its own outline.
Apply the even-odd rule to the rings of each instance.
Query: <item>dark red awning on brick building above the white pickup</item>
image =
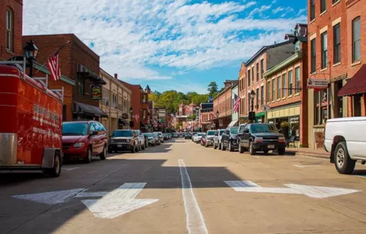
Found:
[[[338,97],[354,96],[366,92],[366,65],[362,65],[353,78],[338,91]]]

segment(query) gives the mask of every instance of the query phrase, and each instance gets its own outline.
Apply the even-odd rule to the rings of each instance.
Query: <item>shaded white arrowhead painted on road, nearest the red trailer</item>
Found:
[[[33,193],[28,195],[15,195],[11,197],[15,197],[18,199],[30,200],[33,202],[39,202],[44,204],[59,204],[64,202],[64,200],[69,199],[77,195],[79,192],[83,191],[83,188],[76,188],[74,190],[61,190],[54,192],[41,192],[41,193]]]

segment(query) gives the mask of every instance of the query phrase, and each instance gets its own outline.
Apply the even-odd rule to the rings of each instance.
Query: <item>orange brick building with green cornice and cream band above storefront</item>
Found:
[[[295,137],[307,147],[307,25],[297,24],[294,34],[285,35],[293,42],[295,54],[268,69],[266,80],[266,123],[274,123],[286,138]]]

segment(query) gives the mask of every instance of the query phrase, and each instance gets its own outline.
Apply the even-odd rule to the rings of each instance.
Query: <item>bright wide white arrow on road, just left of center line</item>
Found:
[[[125,183],[101,199],[83,200],[86,207],[98,218],[116,218],[129,211],[158,202],[159,199],[135,199],[146,183]]]

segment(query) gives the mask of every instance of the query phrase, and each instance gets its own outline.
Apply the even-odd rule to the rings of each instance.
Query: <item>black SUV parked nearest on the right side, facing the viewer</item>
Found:
[[[278,133],[276,126],[271,123],[240,125],[237,137],[241,154],[246,150],[249,150],[251,155],[258,151],[268,154],[269,150],[277,150],[280,155],[285,154],[285,136]]]

